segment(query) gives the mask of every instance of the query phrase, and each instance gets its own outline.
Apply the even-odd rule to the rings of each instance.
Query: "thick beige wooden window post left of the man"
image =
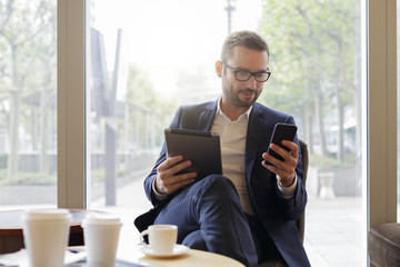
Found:
[[[57,1],[58,207],[86,208],[84,4]]]

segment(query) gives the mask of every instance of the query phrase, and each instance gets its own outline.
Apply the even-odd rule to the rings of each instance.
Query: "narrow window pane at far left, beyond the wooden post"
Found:
[[[57,204],[57,1],[0,1],[0,206]]]

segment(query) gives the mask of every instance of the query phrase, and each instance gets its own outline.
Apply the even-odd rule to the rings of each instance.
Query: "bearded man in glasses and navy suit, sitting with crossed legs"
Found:
[[[246,266],[279,260],[282,266],[310,266],[296,220],[303,214],[299,144],[283,140],[270,148],[284,161],[266,154],[277,122],[291,116],[256,102],[270,76],[269,48],[250,31],[234,32],[222,47],[216,72],[222,96],[213,102],[180,107],[170,128],[218,132],[221,175],[177,175],[191,165],[168,157],[166,146],[144,189],[154,209],[136,220],[139,230],[151,224],[178,226],[178,243],[236,258]],[[266,160],[272,165],[267,165]]]

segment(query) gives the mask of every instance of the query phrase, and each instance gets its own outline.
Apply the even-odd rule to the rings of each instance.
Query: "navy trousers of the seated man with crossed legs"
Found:
[[[250,226],[228,178],[212,175],[174,196],[154,224],[178,226],[178,243],[258,266]]]

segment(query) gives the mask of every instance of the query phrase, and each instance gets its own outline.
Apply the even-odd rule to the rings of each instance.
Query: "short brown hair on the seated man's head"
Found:
[[[223,42],[221,51],[221,61],[227,62],[231,56],[232,48],[236,46],[254,49],[258,51],[266,51],[269,56],[269,48],[266,40],[253,31],[236,31],[227,37]]]

